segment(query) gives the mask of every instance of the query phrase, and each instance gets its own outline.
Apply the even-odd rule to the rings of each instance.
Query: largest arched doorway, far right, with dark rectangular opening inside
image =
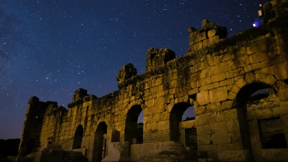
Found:
[[[236,96],[242,146],[243,149],[251,150],[253,160],[257,162],[263,161],[262,149],[287,147],[280,117],[261,113],[268,109],[273,110],[275,106],[266,104],[270,101],[266,98],[272,97],[273,102],[275,93],[276,90],[271,85],[253,82],[242,87]]]

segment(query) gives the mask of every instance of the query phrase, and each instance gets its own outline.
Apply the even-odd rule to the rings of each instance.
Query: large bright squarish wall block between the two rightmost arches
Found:
[[[216,89],[209,90],[210,102],[219,102],[227,100],[228,93],[226,87],[219,87]]]

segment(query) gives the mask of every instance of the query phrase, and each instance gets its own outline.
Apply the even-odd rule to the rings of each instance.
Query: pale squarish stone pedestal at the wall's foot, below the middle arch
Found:
[[[109,143],[108,155],[102,162],[131,162],[129,157],[129,142]]]

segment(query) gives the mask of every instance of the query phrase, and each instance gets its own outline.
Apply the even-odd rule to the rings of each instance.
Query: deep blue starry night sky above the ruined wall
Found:
[[[228,37],[253,27],[258,0],[0,0],[0,139],[20,138],[28,100],[67,108],[74,90],[118,90],[150,47],[187,53],[188,27],[208,19]]]

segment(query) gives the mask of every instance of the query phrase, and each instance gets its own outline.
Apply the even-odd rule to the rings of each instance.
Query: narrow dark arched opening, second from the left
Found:
[[[107,147],[107,125],[106,123],[100,122],[94,137],[94,148],[92,155],[92,162],[101,162],[106,156]]]

